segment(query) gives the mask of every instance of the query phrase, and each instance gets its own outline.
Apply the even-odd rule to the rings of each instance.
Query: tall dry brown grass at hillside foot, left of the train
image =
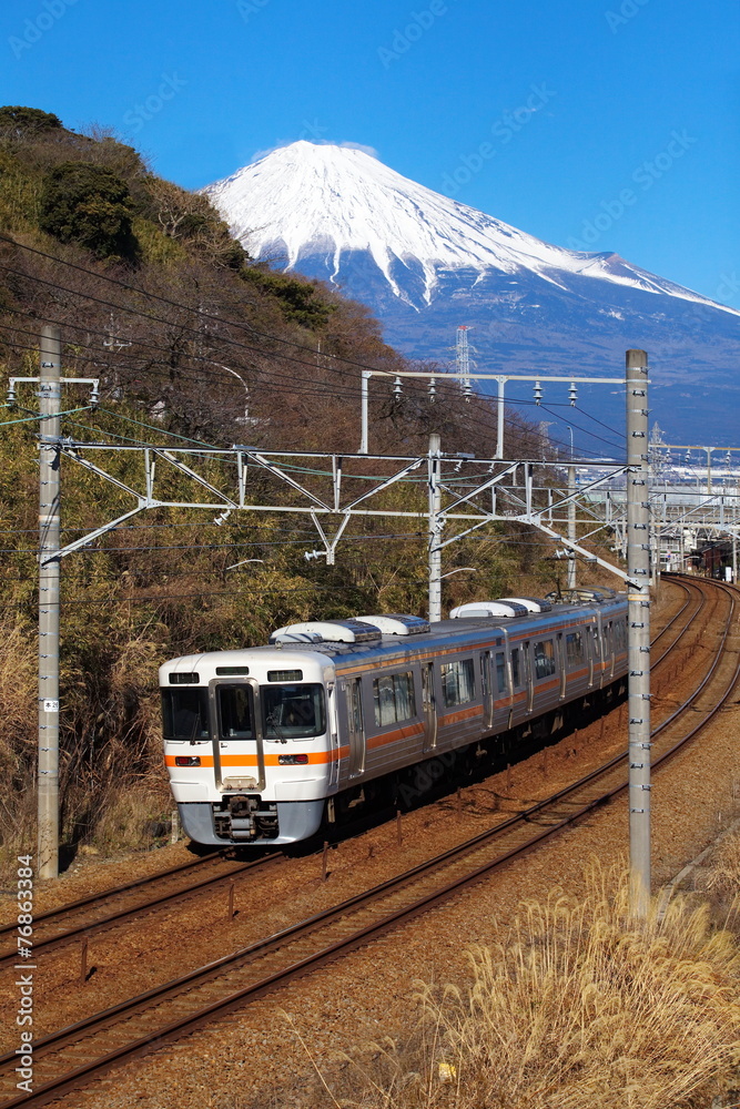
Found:
[[[156,662],[149,628],[130,634],[100,682],[65,664],[67,728],[60,744],[62,855],[80,843],[103,854],[153,846],[173,807],[162,767]],[[94,685],[99,682],[99,685]],[[92,683],[92,685],[91,685]],[[0,612],[0,882],[36,848],[37,644]]]

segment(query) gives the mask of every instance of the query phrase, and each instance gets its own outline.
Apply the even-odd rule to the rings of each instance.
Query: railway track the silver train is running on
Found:
[[[688,583],[677,581],[676,584],[685,591],[686,597],[679,610],[652,641],[655,648],[665,637],[670,637],[672,633],[667,645],[663,645],[662,653],[652,661],[653,670],[670,655],[688,633],[703,604],[703,598],[692,581],[689,580]],[[687,611],[688,617],[686,617]],[[686,619],[682,619],[685,617]],[[230,882],[237,875],[244,875],[246,871],[264,868],[283,857],[282,852],[275,852],[264,858],[240,863],[230,855],[230,852],[219,852],[217,855],[183,863],[171,869],[139,878],[125,886],[60,905],[34,917],[34,957],[97,935],[126,920],[166,908],[203,889]],[[209,874],[210,871],[215,873]],[[195,881],[192,881],[193,878]],[[0,927],[0,945],[7,938],[14,938],[14,933],[16,924]],[[4,950],[0,947],[0,970],[12,965],[14,959],[14,947],[7,947]]]

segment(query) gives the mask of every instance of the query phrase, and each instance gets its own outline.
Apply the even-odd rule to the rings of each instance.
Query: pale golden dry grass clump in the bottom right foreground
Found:
[[[354,1090],[304,1103],[708,1109],[738,1074],[737,940],[682,901],[640,927],[626,891],[595,869],[582,901],[526,905],[504,943],[470,952],[464,987],[419,988],[409,1044],[366,1045]]]

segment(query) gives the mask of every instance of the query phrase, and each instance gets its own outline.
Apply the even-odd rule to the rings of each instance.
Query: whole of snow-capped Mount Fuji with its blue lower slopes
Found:
[[[737,438],[740,313],[617,254],[545,243],[354,146],[295,142],[203,192],[253,258],[339,287],[414,358],[449,364],[459,324],[494,374],[619,376],[642,347],[670,441]],[[587,396],[621,426],[615,397]]]

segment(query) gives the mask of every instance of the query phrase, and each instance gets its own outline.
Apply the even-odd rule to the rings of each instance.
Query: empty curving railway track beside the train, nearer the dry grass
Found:
[[[740,674],[738,654],[724,648],[738,608],[738,591],[723,594],[723,634],[708,672],[691,696],[652,731],[653,766],[699,732],[730,695]],[[689,588],[689,591],[691,589]],[[690,718],[687,728],[686,719]],[[30,1096],[10,1097],[0,1109],[44,1105],[107,1070],[151,1051],[162,1040],[202,1027],[234,1008],[274,991],[399,924],[413,919],[533,849],[617,796],[627,785],[626,752],[556,795],[505,820],[383,884],[209,966],[95,1014],[34,1044]],[[16,1057],[0,1057],[0,1090],[11,1093]]]

